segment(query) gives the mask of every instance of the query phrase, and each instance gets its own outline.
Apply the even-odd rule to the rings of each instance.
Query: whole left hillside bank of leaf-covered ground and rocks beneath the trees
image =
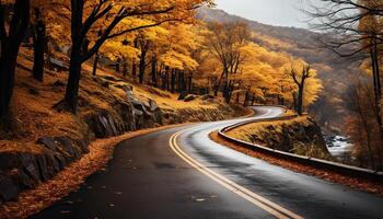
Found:
[[[247,112],[213,96],[178,101],[176,93],[139,84],[104,67],[83,67],[77,115],[62,111],[67,72],[32,79],[32,51],[22,48],[11,104],[12,130],[0,131],[0,203],[54,177],[90,151],[96,139],[160,126],[220,120]],[[104,159],[104,158],[102,158]]]

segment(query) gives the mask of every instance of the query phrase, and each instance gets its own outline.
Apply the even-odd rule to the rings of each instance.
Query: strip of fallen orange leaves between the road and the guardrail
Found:
[[[376,183],[376,182],[372,182],[372,181],[368,181],[368,180],[363,180],[363,178],[350,177],[348,175],[339,174],[336,172],[315,169],[312,166],[303,165],[301,163],[286,161],[283,159],[278,159],[278,158],[275,158],[271,155],[267,155],[267,154],[254,151],[254,150],[243,148],[243,147],[237,146],[235,143],[229,142],[229,141],[222,139],[217,132],[211,132],[210,139],[222,145],[222,146],[227,146],[233,150],[245,153],[249,157],[264,160],[268,163],[279,165],[279,166],[282,166],[285,169],[294,171],[294,172],[304,173],[307,175],[313,175],[313,176],[320,177],[320,178],[328,181],[328,182],[338,183],[338,184],[349,186],[349,187],[352,187],[356,189],[360,189],[363,192],[368,192],[368,193],[378,194],[380,196],[383,196],[383,185],[381,183]]]

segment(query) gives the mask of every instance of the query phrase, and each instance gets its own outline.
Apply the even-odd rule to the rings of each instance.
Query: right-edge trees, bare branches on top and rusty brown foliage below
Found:
[[[326,33],[323,44],[344,58],[361,62],[359,74],[348,79],[353,85],[346,94],[352,113],[345,120],[345,129],[356,145],[353,158],[361,166],[381,171],[383,2],[322,0],[321,3],[327,7],[315,7],[313,2],[309,13],[318,21],[313,26]]]

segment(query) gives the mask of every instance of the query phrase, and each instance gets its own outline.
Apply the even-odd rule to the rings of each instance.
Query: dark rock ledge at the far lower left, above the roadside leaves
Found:
[[[0,153],[0,203],[13,200],[23,189],[51,178],[89,151],[85,140],[68,137],[42,137],[36,143],[43,147],[42,152]]]

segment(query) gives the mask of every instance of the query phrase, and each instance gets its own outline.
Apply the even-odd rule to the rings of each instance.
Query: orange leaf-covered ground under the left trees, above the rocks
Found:
[[[172,112],[211,110],[218,108],[219,105],[200,100],[189,103],[177,101],[177,94],[138,84],[109,69],[97,71],[97,80],[106,81],[104,77],[113,77],[115,80],[108,81],[109,87],[104,88],[100,84],[100,80],[91,76],[92,66],[84,64],[80,82],[78,116],[65,112],[58,113],[53,106],[63,99],[68,72],[46,70],[44,82],[37,82],[32,78],[33,62],[27,57],[33,57],[31,50],[23,48],[18,60],[20,66],[16,70],[11,103],[15,128],[12,132],[0,131],[0,152],[13,150],[39,153],[42,152],[40,146],[34,142],[43,136],[68,136],[72,139],[83,139],[88,135],[88,127],[83,122],[85,116],[100,111],[113,113],[116,102],[127,100],[126,91],[117,88],[118,84],[131,85],[135,95],[142,102],[151,99],[156,101],[160,107]],[[57,82],[59,85],[54,85]]]

